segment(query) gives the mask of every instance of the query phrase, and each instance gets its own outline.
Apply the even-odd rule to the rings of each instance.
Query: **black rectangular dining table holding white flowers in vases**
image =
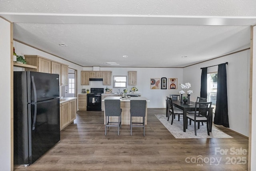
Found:
[[[183,110],[183,131],[186,132],[187,111],[195,111],[196,102],[190,101],[190,103],[188,104],[188,103],[184,103],[183,101],[172,100],[172,105]],[[196,110],[198,110],[198,107],[196,108]],[[211,107],[209,111],[209,116],[210,116],[209,131],[210,132],[212,132],[212,111],[213,111],[213,107]]]

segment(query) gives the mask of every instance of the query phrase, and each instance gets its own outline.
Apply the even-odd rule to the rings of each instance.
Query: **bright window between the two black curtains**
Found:
[[[214,107],[213,112],[215,112],[216,107],[216,97],[217,97],[217,83],[218,83],[218,73],[207,74],[207,101],[212,101],[212,107]]]

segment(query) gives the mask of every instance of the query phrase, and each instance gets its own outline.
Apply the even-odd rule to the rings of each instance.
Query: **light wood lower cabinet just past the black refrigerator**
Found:
[[[76,119],[76,99],[60,103],[60,130]]]

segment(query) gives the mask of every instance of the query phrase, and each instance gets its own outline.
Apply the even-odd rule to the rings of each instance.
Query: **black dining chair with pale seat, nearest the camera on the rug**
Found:
[[[188,119],[194,121],[194,129],[195,129],[195,135],[196,135],[196,123],[200,122],[206,122],[206,127],[207,127],[207,133],[210,135],[210,108],[212,106],[212,102],[196,102],[195,104],[195,111],[194,113],[188,113],[187,118],[186,118],[186,128],[188,128]],[[196,111],[198,107],[198,112]]]

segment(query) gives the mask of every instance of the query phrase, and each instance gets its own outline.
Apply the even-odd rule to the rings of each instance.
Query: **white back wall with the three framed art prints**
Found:
[[[84,71],[91,71],[92,67],[85,67]],[[148,102],[148,108],[165,108],[166,96],[170,94],[177,94],[181,88],[178,89],[150,89],[150,78],[178,78],[178,85],[182,83],[183,71],[182,68],[119,68],[119,67],[102,67],[101,71],[112,71],[112,76],[128,76],[128,71],[137,71],[137,93],[141,93],[142,96],[150,99]],[[168,85],[168,84],[167,84]],[[90,85],[84,85],[82,88],[106,88],[106,85],[102,85],[102,82],[92,82]],[[108,88],[112,88],[113,85],[108,85]],[[133,86],[128,85],[128,91]],[[82,89],[81,89],[82,90]],[[81,91],[80,90],[80,91]],[[118,89],[113,89],[113,92],[117,92]],[[123,91],[123,89],[120,89]]]

